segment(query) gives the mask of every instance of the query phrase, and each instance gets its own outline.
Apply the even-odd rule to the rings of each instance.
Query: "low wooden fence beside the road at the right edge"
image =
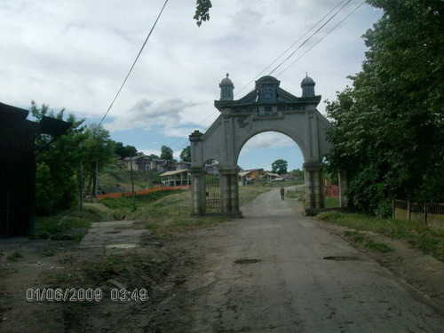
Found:
[[[444,203],[418,204],[405,200],[393,201],[393,218],[423,221],[431,226],[444,226]]]

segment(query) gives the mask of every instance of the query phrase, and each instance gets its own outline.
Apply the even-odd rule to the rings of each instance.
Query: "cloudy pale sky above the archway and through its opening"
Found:
[[[34,99],[54,110],[66,107],[88,123],[99,123],[163,3],[1,0],[0,101],[28,108]],[[178,156],[192,131],[204,131],[218,117],[213,103],[219,98],[218,83],[226,73],[234,82],[235,99],[242,98],[254,88],[252,80],[339,3],[213,0],[210,21],[198,28],[193,20],[195,1],[170,0],[107,115],[105,127],[112,139],[146,154],[159,155],[160,147],[166,145]],[[305,72],[313,77],[322,100],[334,99],[336,91],[350,84],[346,75],[361,70],[366,51],[361,36],[381,16],[367,4],[297,58],[360,4],[361,0],[350,1],[274,72],[282,89],[300,96]],[[262,75],[268,75],[280,62]],[[324,108],[322,102],[318,109],[323,113]],[[286,159],[290,170],[303,163],[293,141],[266,132],[245,145],[239,165],[270,169],[278,158]]]

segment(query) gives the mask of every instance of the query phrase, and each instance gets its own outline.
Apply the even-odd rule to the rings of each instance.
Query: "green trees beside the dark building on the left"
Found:
[[[37,107],[34,100],[30,111],[36,120],[44,116],[63,120],[65,116],[64,109],[55,114],[45,104]],[[84,120],[75,119],[75,115],[68,115],[66,121],[72,124],[71,128],[57,139],[45,134],[36,136],[36,145],[44,147],[36,155],[36,212],[40,215],[67,210],[77,201],[75,176],[81,162],[83,178],[87,179],[85,187],[91,192],[96,179],[96,163],[100,171],[113,159],[114,141],[109,139],[108,131],[101,126],[87,128]]]

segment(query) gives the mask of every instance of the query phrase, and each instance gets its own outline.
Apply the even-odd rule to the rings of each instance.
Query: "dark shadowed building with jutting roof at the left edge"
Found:
[[[0,237],[35,233],[36,134],[57,138],[71,127],[47,116],[32,122],[28,114],[28,110],[0,103]]]

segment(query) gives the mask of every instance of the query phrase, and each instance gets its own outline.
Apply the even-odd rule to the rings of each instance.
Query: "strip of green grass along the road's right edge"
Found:
[[[358,231],[371,231],[404,240],[414,248],[444,261],[444,230],[432,229],[424,223],[413,220],[375,218],[361,214],[345,214],[338,211],[321,213],[318,218]]]

